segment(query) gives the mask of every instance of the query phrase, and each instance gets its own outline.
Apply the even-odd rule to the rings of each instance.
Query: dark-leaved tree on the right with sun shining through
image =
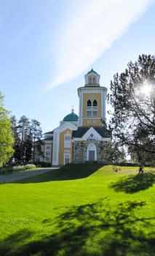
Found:
[[[127,146],[140,165],[154,162],[155,57],[142,55],[114,75],[109,101],[114,108],[111,129],[116,141]]]

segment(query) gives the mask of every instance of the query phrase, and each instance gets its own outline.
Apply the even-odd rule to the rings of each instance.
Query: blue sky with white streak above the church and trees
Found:
[[[154,55],[155,1],[0,1],[0,91],[17,120],[43,132],[79,113],[77,88],[93,69],[102,86],[140,54]]]

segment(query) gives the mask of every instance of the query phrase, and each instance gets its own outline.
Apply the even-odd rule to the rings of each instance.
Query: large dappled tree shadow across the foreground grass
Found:
[[[68,208],[55,222],[41,222],[50,235],[21,230],[1,241],[0,255],[153,256],[155,218],[140,217],[145,205],[135,200],[111,206],[105,198]],[[29,241],[28,236],[37,241]]]

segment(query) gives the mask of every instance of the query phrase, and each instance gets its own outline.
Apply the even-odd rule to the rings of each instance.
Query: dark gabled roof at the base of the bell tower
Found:
[[[111,132],[103,127],[92,127],[98,132],[102,138],[111,138]],[[82,136],[90,129],[90,127],[79,127],[76,131],[73,131],[73,138],[82,138]]]

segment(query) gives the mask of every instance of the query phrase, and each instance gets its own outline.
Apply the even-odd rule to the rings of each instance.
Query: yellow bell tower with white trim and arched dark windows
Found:
[[[100,86],[100,75],[93,69],[84,76],[79,87],[79,127],[102,127],[106,123],[106,87]]]

